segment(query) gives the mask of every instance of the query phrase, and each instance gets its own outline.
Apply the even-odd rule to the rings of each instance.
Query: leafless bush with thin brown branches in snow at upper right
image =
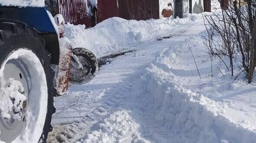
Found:
[[[232,76],[234,65],[237,65],[251,83],[256,66],[255,0],[219,2],[219,10],[203,16],[208,33],[205,45],[211,56],[221,60],[225,56],[229,57]]]

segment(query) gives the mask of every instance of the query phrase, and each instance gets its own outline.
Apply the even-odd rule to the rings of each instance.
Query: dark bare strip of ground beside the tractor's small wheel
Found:
[[[101,58],[98,59],[98,67],[100,68],[100,67],[102,67],[103,65],[105,65],[107,63],[110,64],[112,62],[113,58],[124,55],[125,53],[131,53],[131,52],[134,52],[134,51],[136,51],[136,50],[123,51],[123,52],[120,52],[120,53],[110,54],[110,55],[101,57]]]

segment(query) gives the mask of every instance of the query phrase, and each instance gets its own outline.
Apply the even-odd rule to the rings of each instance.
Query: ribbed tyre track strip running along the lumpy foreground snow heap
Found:
[[[138,69],[137,69],[138,70]],[[106,71],[101,70],[99,72],[99,76],[105,73]],[[90,132],[91,127],[97,124],[99,121],[104,120],[110,114],[112,114],[119,106],[122,105],[124,99],[127,95],[130,94],[132,89],[134,89],[134,85],[138,82],[141,73],[134,70],[129,76],[126,76],[125,79],[122,79],[123,82],[119,82],[114,84],[112,87],[108,87],[108,89],[103,89],[101,92],[98,92],[99,96],[102,96],[98,100],[90,100],[89,102],[89,110],[81,110],[85,111],[86,114],[81,114],[80,116],[66,116],[66,117],[58,117],[55,119],[71,119],[75,121],[64,121],[59,124],[54,125],[53,132],[49,133],[47,143],[75,143],[83,138],[85,138],[86,134]],[[72,92],[71,92],[72,93]],[[86,92],[85,92],[86,94]],[[100,95],[102,94],[102,95]],[[67,95],[72,96],[72,95]],[[96,96],[97,97],[97,96]],[[68,99],[62,99],[62,101],[66,101]],[[78,101],[76,101],[78,102]],[[81,101],[80,101],[81,102]],[[58,110],[58,108],[57,108]],[[89,111],[89,112],[87,112]],[[61,112],[60,114],[70,114],[70,111]]]

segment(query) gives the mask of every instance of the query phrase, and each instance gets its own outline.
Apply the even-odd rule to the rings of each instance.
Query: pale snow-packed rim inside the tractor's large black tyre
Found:
[[[12,110],[8,112],[10,118],[0,117],[0,140],[6,143],[38,142],[43,131],[48,103],[46,76],[40,60],[32,51],[13,51],[2,64],[0,77],[1,84],[7,84],[10,80],[11,84],[19,83],[19,88],[15,88],[26,96],[24,101],[11,98],[12,101],[20,100],[22,108],[15,108],[16,105],[13,105]],[[8,93],[4,97],[8,99]],[[20,117],[16,117],[17,113]]]

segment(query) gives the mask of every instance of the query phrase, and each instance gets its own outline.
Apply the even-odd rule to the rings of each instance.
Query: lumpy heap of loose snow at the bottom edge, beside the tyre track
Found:
[[[87,134],[85,140],[77,143],[150,143],[141,137],[139,124],[126,110],[111,114],[98,126],[100,130]]]

